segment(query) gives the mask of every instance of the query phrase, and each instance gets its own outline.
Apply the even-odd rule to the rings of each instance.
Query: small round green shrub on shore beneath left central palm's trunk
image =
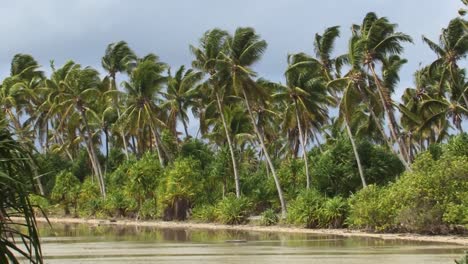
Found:
[[[218,220],[227,225],[244,224],[249,217],[252,203],[246,197],[228,195],[216,205]]]

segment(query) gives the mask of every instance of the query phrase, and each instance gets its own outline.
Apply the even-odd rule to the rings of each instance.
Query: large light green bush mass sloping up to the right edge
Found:
[[[411,172],[394,184],[370,186],[350,200],[348,223],[356,228],[447,233],[468,224],[468,140],[458,136],[419,155]],[[437,156],[436,156],[437,157]],[[456,230],[455,230],[456,231]]]

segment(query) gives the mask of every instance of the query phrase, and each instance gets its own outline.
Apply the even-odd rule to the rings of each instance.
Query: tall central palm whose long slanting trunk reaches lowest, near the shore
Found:
[[[229,50],[227,53],[223,53],[222,61],[231,70],[232,85],[235,91],[243,97],[255,134],[263,150],[263,155],[275,180],[276,190],[281,203],[281,213],[285,217],[286,203],[281,184],[251,107],[251,103],[255,100],[261,100],[258,95],[263,93],[260,91],[259,85],[252,80],[252,77],[255,77],[256,73],[251,67],[260,60],[267,48],[267,43],[265,40],[260,39],[260,36],[255,33],[253,28],[237,28],[234,36],[229,38],[227,45]]]

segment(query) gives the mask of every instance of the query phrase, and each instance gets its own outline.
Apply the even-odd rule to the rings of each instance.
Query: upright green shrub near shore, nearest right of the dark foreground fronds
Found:
[[[70,207],[74,208],[76,215],[79,193],[80,181],[71,172],[62,171],[55,178],[51,198],[63,207],[65,215],[70,214]]]

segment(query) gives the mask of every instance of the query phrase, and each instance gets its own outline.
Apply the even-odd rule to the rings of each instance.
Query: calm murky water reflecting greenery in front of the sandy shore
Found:
[[[463,247],[301,234],[41,225],[46,263],[454,263]],[[246,242],[234,242],[245,240]]]

